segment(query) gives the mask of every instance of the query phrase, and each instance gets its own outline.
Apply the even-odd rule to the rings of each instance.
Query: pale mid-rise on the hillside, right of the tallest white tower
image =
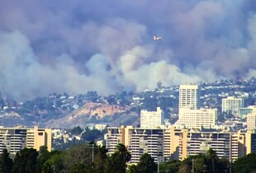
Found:
[[[234,96],[228,96],[222,99],[222,113],[230,113],[232,115],[238,115],[239,108],[244,108],[244,99],[235,98]]]

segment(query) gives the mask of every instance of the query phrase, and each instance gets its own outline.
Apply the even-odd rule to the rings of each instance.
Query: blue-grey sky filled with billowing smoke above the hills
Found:
[[[27,99],[249,79],[255,12],[255,0],[0,0],[0,91]]]

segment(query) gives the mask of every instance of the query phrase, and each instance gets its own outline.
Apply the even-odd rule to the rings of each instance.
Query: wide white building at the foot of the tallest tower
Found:
[[[217,109],[192,110],[183,108],[179,111],[176,126],[182,128],[212,129],[217,123]]]

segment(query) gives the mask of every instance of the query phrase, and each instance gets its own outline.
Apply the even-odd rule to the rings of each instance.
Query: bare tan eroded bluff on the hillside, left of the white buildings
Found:
[[[51,128],[83,127],[90,123],[120,125],[138,121],[139,115],[130,111],[130,106],[86,103],[78,110],[59,119],[50,119],[45,125]]]

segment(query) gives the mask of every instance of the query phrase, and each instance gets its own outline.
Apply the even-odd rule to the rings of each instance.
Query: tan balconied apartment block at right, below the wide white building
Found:
[[[246,156],[249,151],[246,143],[246,133],[238,132],[207,132],[192,129],[183,129],[176,133],[180,137],[178,159],[183,160],[199,153],[205,154],[210,148],[216,151],[219,158],[235,161],[239,157]],[[249,137],[249,136],[248,136]],[[252,143],[250,143],[251,146]]]

